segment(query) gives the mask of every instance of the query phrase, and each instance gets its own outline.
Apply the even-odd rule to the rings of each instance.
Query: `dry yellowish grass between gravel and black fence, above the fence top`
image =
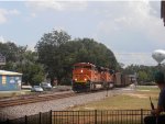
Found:
[[[138,87],[133,93],[109,97],[101,101],[72,108],[70,110],[148,110],[151,109],[148,98],[152,98],[156,106],[158,92],[160,90],[156,87]]]

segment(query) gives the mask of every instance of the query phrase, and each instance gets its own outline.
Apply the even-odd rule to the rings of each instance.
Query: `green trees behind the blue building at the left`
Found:
[[[26,50],[26,46],[18,46],[14,43],[0,43],[1,54],[6,56],[7,64],[1,69],[22,72],[22,81],[30,84],[38,84],[43,81],[44,69],[37,64],[37,55]]]

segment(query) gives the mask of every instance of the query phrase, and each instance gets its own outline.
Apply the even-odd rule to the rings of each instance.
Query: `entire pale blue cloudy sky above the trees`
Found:
[[[160,1],[0,1],[0,42],[34,49],[44,33],[64,30],[72,38],[89,37],[110,48],[119,63],[156,65],[165,49]]]

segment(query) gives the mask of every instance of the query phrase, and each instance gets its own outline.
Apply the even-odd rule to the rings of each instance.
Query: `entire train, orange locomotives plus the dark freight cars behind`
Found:
[[[73,70],[73,90],[91,91],[96,89],[112,89],[124,87],[135,81],[132,75],[123,76],[108,68],[97,67],[89,63],[78,63]]]

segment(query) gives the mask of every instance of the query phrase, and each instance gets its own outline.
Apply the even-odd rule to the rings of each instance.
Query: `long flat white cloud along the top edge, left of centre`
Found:
[[[35,12],[54,10],[54,11],[75,11],[85,10],[87,8],[86,1],[29,1],[26,5]]]

